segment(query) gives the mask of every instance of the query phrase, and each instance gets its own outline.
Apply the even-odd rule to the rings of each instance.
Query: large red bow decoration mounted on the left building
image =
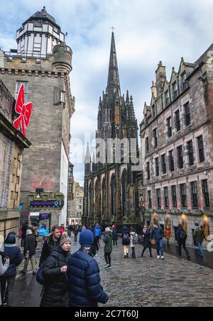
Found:
[[[18,130],[18,127],[21,125],[21,133],[26,136],[25,127],[28,127],[31,120],[33,103],[24,103],[24,89],[23,84],[18,91],[18,97],[16,99],[15,111],[19,113],[20,116],[14,120],[13,125]]]

